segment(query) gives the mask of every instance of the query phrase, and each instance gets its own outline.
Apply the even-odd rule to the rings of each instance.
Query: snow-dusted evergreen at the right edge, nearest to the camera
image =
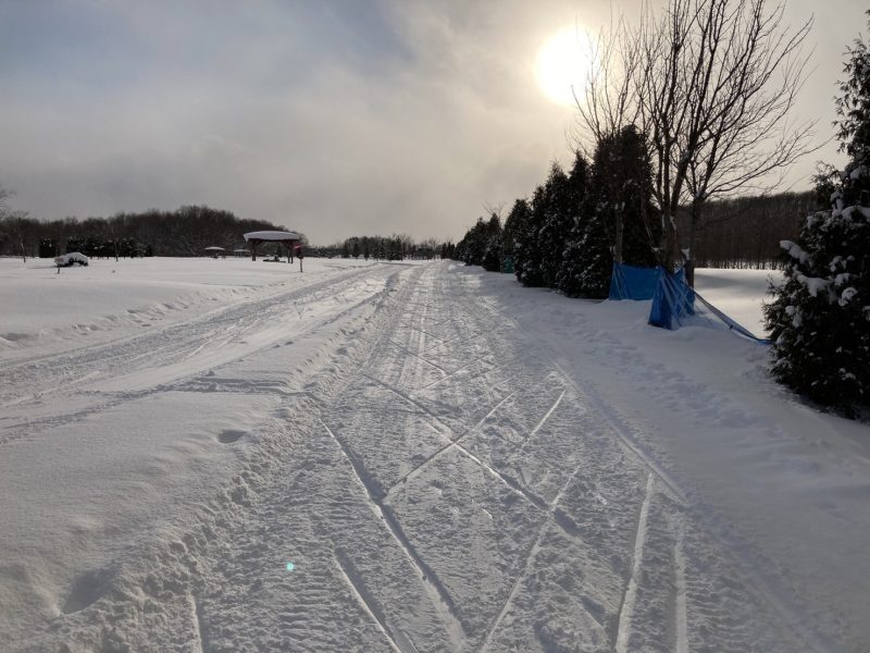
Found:
[[[870,12],[869,12],[870,13]],[[831,211],[784,241],[785,283],[765,308],[772,372],[782,383],[854,416],[870,404],[870,52],[856,41],[841,84],[837,125],[849,157]]]

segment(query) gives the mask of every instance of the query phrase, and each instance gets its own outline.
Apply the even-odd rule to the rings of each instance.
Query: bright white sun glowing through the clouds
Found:
[[[583,97],[589,71],[588,37],[576,26],[563,27],[540,46],[535,79],[550,100],[574,106]]]

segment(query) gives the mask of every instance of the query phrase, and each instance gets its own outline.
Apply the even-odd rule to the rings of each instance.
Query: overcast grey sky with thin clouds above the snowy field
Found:
[[[611,4],[614,9],[611,9]],[[304,232],[461,237],[569,164],[538,50],[639,0],[0,0],[0,184],[38,218],[206,204]],[[816,11],[801,119],[833,134],[865,0]],[[842,164],[829,144],[795,168]]]

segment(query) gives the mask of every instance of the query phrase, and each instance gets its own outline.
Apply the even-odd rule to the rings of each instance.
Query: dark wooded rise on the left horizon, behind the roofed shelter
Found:
[[[202,256],[206,247],[244,248],[246,232],[284,229],[204,206],[52,221],[36,220],[23,211],[0,211],[0,255]]]

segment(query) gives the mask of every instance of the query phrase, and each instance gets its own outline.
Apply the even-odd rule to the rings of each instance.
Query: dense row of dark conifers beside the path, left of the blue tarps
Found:
[[[607,297],[614,257],[656,264],[650,175],[643,136],[627,126],[602,139],[592,161],[577,152],[568,172],[554,163],[531,199],[514,201],[504,225],[497,212],[480,218],[453,258],[490,271],[512,263],[525,286]]]

